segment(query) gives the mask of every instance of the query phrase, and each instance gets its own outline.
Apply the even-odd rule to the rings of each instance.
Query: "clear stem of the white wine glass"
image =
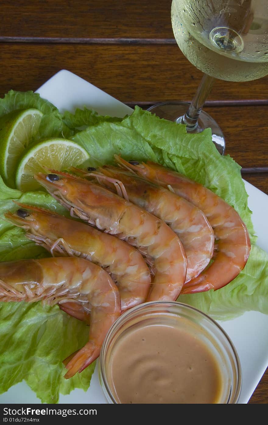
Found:
[[[197,88],[197,92],[192,100],[191,105],[189,106],[188,111],[177,119],[178,123],[186,124],[187,131],[194,131],[196,129],[198,116],[202,111],[203,105],[212,89],[215,80],[216,78],[210,77],[207,74],[203,75],[203,78],[199,84],[199,87]]]

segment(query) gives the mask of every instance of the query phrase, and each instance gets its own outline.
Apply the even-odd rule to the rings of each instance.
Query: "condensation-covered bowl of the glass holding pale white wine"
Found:
[[[173,0],[171,20],[181,51],[205,74],[227,81],[268,74],[267,0]]]

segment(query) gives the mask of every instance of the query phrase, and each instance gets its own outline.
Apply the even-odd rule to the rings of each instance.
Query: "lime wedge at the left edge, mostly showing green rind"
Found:
[[[17,163],[37,134],[42,116],[38,109],[24,109],[0,118],[0,173],[10,186],[14,186]]]

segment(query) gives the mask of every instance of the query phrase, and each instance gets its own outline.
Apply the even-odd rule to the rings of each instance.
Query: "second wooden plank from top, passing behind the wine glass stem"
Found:
[[[35,90],[65,68],[125,103],[190,101],[202,77],[176,45],[0,43],[0,49],[0,96],[11,88]],[[267,99],[267,84],[268,77],[218,80],[209,100]]]

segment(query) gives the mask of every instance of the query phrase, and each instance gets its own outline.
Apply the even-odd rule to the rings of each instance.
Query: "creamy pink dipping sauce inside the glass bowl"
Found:
[[[217,403],[217,361],[196,335],[166,325],[136,328],[110,357],[110,388],[121,403]]]

